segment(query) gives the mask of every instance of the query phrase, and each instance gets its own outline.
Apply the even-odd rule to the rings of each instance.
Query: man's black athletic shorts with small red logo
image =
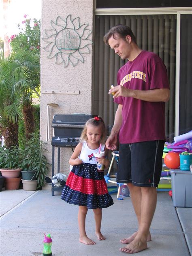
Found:
[[[164,141],[120,144],[118,183],[139,187],[158,187],[162,171]]]

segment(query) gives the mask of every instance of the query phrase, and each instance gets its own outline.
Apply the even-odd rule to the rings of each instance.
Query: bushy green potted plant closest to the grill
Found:
[[[21,149],[22,182],[36,180],[37,188],[41,188],[44,186],[45,176],[48,172],[47,158],[43,154],[47,149],[45,149],[45,143],[40,140],[39,134],[34,133],[31,136],[26,142],[25,148]],[[26,177],[26,174],[29,174],[29,177]]]

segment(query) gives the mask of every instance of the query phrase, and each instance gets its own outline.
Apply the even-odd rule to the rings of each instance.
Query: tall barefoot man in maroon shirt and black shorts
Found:
[[[117,182],[127,183],[138,231],[120,242],[122,252],[147,248],[156,209],[156,188],[162,171],[165,141],[165,102],[169,100],[166,67],[155,53],[142,51],[129,27],[117,25],[104,36],[105,44],[128,62],[117,73],[117,86],[109,90],[118,104],[106,147],[116,149],[119,139]]]

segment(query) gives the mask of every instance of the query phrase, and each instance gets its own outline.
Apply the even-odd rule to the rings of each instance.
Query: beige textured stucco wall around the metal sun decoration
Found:
[[[88,24],[86,29],[93,30],[93,1],[92,0],[42,0],[41,17],[41,38],[47,38],[45,30],[53,30],[53,23],[60,16],[66,21],[68,15],[71,15],[71,21],[79,17],[80,26]],[[68,20],[70,20],[68,19]],[[51,21],[53,21],[51,25]],[[78,21],[78,19],[76,19]],[[76,22],[77,24],[77,22]],[[56,34],[59,27],[55,26]],[[62,29],[62,27],[61,27]],[[53,31],[54,33],[54,31]],[[88,37],[92,40],[92,34]],[[52,42],[54,42],[54,35]],[[47,42],[45,42],[47,41]],[[45,51],[44,47],[49,45],[49,40],[41,39],[41,124],[40,133],[43,141],[46,141],[47,130],[47,103],[57,103],[59,107],[50,107],[50,138],[47,141],[48,152],[46,154],[49,163],[52,163],[51,138],[53,131],[51,128],[52,117],[55,114],[90,114],[92,111],[92,45],[89,45],[90,54],[81,54],[84,63],[79,61],[76,66],[71,63],[64,67],[64,63],[56,64],[56,55],[53,58],[47,58],[50,52]],[[80,58],[80,57],[79,57]],[[82,59],[81,59],[82,60]],[[79,91],[79,94],[47,94],[47,91]],[[68,160],[72,154],[70,148],[61,148],[60,151],[60,171],[68,175]],[[55,171],[57,168],[57,149],[55,149]],[[51,177],[51,166],[49,168],[49,177]]]

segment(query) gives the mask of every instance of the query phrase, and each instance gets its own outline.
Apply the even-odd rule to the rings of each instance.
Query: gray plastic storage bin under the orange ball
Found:
[[[171,169],[171,189],[175,207],[192,208],[192,173]]]

